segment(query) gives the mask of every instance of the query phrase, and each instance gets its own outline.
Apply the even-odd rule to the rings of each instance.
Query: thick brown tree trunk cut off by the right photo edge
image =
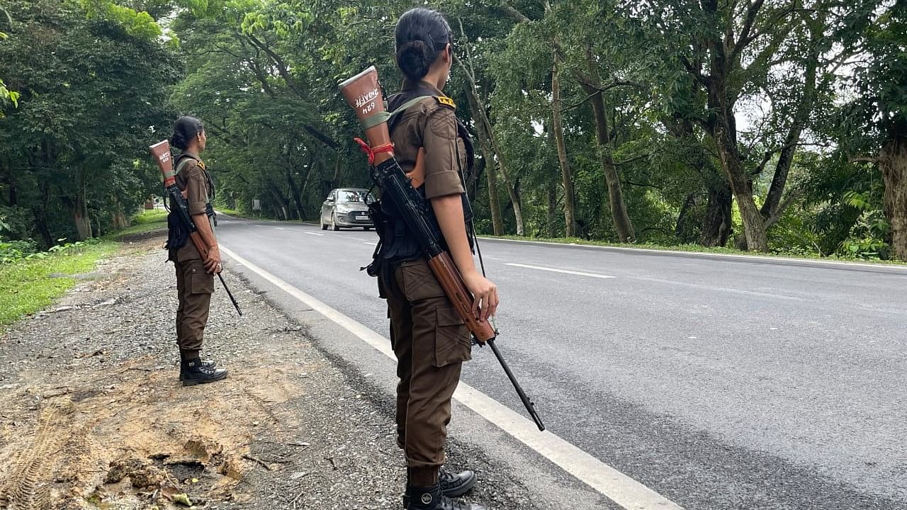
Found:
[[[907,260],[907,138],[885,142],[879,152],[885,184],[885,216],[892,225],[894,256]]]

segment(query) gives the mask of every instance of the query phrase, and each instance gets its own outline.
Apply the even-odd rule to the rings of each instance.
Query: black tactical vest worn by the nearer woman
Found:
[[[422,96],[437,96],[437,93],[431,89],[425,87],[416,87],[411,90],[406,90],[401,93],[395,93],[387,99],[387,111],[395,112],[405,103],[414,100],[415,98]],[[402,113],[402,112],[400,112]],[[396,113],[387,123],[388,130],[393,135],[393,132],[396,126],[399,124],[401,115]],[[463,189],[465,190],[466,182],[465,177],[467,172],[473,172],[473,162],[474,162],[474,152],[473,152],[473,142],[470,140],[469,132],[466,130],[466,126],[460,122],[459,119],[457,123],[457,136],[463,140],[463,147],[466,152],[466,168],[460,168],[460,180],[463,184]],[[457,153],[457,165],[460,166],[460,154]],[[418,190],[424,198],[424,185]],[[473,208],[469,202],[466,193],[463,193],[463,216],[466,221],[466,232],[467,237],[469,238],[470,247],[473,245],[473,237],[469,235],[472,231],[473,224]],[[373,256],[372,263],[368,266],[368,274],[371,276],[378,276],[378,274],[384,273],[384,278],[387,281],[393,280],[393,268],[396,264],[406,261],[406,260],[416,260],[422,256],[422,251],[419,247],[418,242],[415,240],[414,236],[411,235],[407,230],[406,223],[401,216],[400,211],[397,208],[397,205],[390,199],[389,196],[382,197],[382,200],[371,204],[369,206],[369,213],[372,218],[372,221],[375,223],[375,230],[378,233],[380,238],[378,246],[375,249],[375,254]],[[431,205],[426,201],[426,207],[424,208],[424,215],[428,224],[435,230],[438,234],[438,238],[444,240],[444,236],[441,234],[441,228],[438,226],[438,221],[434,216],[434,210]],[[444,250],[447,247],[444,246]]]

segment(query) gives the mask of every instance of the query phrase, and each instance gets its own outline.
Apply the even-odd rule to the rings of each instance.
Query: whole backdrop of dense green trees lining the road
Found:
[[[336,83],[399,86],[396,0],[12,0],[0,236],[87,239],[158,190],[191,113],[221,207],[366,186]],[[907,259],[907,2],[438,0],[483,233]],[[590,23],[594,20],[594,23]]]

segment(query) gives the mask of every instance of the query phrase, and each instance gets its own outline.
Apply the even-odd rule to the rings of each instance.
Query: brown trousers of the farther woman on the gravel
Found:
[[[201,343],[208,324],[214,275],[205,270],[200,259],[174,262],[176,291],[180,306],[176,309],[176,343],[180,358],[199,358]]]

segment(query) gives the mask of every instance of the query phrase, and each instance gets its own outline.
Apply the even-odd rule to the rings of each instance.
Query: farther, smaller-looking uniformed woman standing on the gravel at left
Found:
[[[174,162],[176,183],[189,202],[189,213],[201,239],[208,245],[208,259],[189,240],[189,232],[170,221],[168,249],[176,267],[176,289],[180,305],[176,310],[176,342],[180,347],[180,381],[183,386],[209,383],[227,377],[227,370],[214,361],[201,359],[201,345],[208,323],[214,275],[222,269],[218,241],[214,236],[213,186],[199,154],[205,150],[205,128],[199,119],[180,117],[173,126],[171,145],[180,149]],[[171,211],[176,204],[171,202]],[[171,217],[173,213],[171,213]]]

